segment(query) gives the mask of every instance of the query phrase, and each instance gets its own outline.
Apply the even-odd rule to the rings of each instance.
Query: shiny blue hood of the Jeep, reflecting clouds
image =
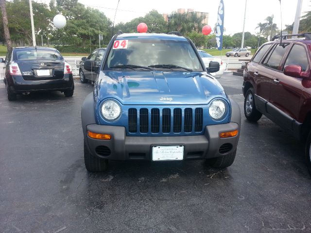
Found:
[[[94,87],[97,100],[123,105],[207,104],[226,98],[221,84],[207,72],[101,71]]]

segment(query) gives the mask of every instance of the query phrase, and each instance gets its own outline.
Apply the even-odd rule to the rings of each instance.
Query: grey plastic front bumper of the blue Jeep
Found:
[[[219,134],[238,130],[236,136],[220,138]],[[224,156],[236,149],[240,136],[240,125],[209,125],[204,135],[193,136],[127,136],[125,127],[90,124],[86,132],[110,134],[110,140],[86,136],[86,145],[92,155],[111,160],[152,160],[154,146],[184,146],[184,159],[206,159]]]

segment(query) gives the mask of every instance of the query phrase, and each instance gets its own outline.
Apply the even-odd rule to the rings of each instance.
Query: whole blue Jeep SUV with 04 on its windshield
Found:
[[[240,136],[241,112],[209,73],[190,39],[174,34],[115,35],[82,106],[88,171],[108,160],[205,159],[230,166]]]

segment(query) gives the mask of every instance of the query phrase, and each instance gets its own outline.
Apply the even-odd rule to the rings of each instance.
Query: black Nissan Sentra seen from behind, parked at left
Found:
[[[70,65],[58,50],[46,47],[17,47],[6,55],[4,63],[8,100],[17,94],[33,91],[61,91],[73,95],[74,84]]]

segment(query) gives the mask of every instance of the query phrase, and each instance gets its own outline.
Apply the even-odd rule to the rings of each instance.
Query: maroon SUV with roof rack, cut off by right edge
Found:
[[[304,38],[263,44],[244,68],[244,114],[263,114],[306,141],[311,173],[311,33],[296,35]]]

